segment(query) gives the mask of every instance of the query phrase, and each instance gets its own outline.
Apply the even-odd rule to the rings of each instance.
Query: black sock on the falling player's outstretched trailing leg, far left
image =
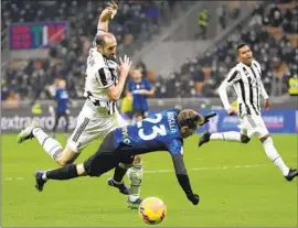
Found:
[[[70,180],[77,177],[76,164],[68,164],[52,171],[46,171],[46,178],[51,180]]]

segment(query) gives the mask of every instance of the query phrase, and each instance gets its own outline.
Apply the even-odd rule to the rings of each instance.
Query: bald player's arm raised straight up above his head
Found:
[[[111,1],[108,3],[108,7],[100,13],[97,23],[97,34],[102,32],[108,32],[108,22],[113,19],[118,10],[118,6]]]

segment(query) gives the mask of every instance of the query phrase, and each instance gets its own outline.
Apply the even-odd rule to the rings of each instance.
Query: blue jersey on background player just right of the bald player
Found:
[[[147,96],[140,94],[143,90],[150,90],[151,85],[148,80],[142,79],[140,83],[136,83],[134,80],[130,80],[128,84],[128,90],[132,93],[132,107],[136,110],[140,111],[147,111],[148,110],[148,104],[147,104]]]

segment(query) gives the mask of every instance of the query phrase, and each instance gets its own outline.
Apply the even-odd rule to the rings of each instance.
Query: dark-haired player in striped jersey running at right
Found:
[[[296,169],[289,169],[274,146],[264,120],[260,116],[259,100],[260,96],[265,99],[265,109],[272,107],[269,96],[267,95],[262,83],[262,70],[258,62],[253,59],[253,53],[246,44],[237,47],[238,64],[227,74],[219,88],[219,94],[223,106],[228,115],[237,113],[241,121],[241,132],[206,132],[200,139],[199,145],[203,145],[210,140],[236,141],[248,143],[254,134],[263,143],[266,155],[280,170],[287,181],[291,181],[298,175]],[[237,95],[238,108],[230,105],[226,89],[233,86]]]

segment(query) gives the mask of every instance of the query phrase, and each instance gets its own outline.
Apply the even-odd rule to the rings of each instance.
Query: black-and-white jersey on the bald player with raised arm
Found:
[[[116,104],[110,101],[106,89],[118,83],[118,64],[103,56],[96,47],[89,50],[87,58],[84,96],[95,106],[105,107],[109,113],[116,110]]]

